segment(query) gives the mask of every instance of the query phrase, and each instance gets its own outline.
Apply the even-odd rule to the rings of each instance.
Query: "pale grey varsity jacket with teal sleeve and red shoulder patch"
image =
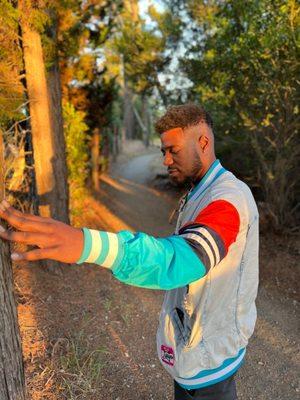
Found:
[[[181,386],[205,387],[237,371],[254,330],[258,288],[258,211],[245,183],[216,160],[182,201],[173,235],[83,232],[78,263],[166,290],[157,352]]]

